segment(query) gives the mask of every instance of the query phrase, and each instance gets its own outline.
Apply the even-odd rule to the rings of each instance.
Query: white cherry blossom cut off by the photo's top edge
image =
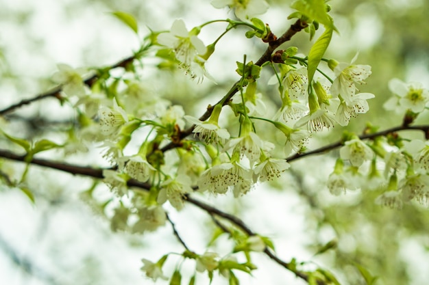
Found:
[[[218,9],[225,6],[234,8],[235,15],[242,21],[264,14],[268,10],[265,0],[213,0],[212,5]]]

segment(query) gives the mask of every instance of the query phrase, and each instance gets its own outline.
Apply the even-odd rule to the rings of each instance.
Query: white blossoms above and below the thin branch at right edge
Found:
[[[406,124],[412,123],[428,107],[429,90],[421,83],[392,79],[389,89],[393,96],[384,103],[384,108],[404,113]],[[394,141],[379,138],[366,144],[354,138],[345,142],[340,155],[328,180],[331,193],[339,195],[346,190],[369,189],[381,192],[376,198],[377,204],[391,208],[402,208],[410,201],[428,204],[428,141],[397,137]],[[345,168],[343,160],[349,161],[350,167]],[[359,169],[365,161],[371,161],[366,174]]]

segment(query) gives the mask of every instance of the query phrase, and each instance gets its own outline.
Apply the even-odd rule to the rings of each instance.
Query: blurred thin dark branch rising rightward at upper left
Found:
[[[122,59],[120,62],[113,64],[112,66],[110,66],[110,68],[124,67],[127,64],[129,64],[130,62],[132,62],[134,59],[135,59],[134,55],[131,57],[127,57],[125,59]],[[94,74],[91,77],[88,77],[87,79],[85,79],[84,83],[86,85],[88,85],[88,87],[91,87],[98,78],[99,78],[99,74]],[[54,87],[53,89],[49,90],[48,92],[38,94],[38,95],[34,96],[33,98],[23,99],[19,103],[16,103],[14,105],[10,105],[9,107],[7,107],[5,109],[0,110],[0,116],[4,116],[5,114],[12,112],[19,107],[23,107],[24,105],[28,105],[28,104],[31,104],[33,102],[36,102],[38,100],[42,100],[45,98],[55,97],[55,98],[61,99],[61,94],[60,94],[61,91],[62,91],[62,85],[59,85],[59,86]]]

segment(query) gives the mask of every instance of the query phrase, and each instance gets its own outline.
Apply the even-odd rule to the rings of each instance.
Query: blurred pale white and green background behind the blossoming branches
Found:
[[[287,20],[291,1],[268,2],[270,9],[260,18],[280,35],[293,23]],[[339,34],[334,35],[326,57],[350,62],[358,52],[356,63],[372,66],[361,91],[376,98],[369,101],[370,111],[353,120],[350,127],[361,133],[368,121],[380,129],[400,125],[402,118],[387,114],[382,104],[391,96],[387,83],[393,77],[429,87],[429,2],[342,0],[330,1],[330,5]],[[175,18],[184,19],[190,29],[234,16],[228,10],[212,8],[210,1],[0,0],[0,7],[0,109],[53,87],[50,78],[58,63],[76,68],[108,66],[132,55],[140,39],[110,12],[134,15],[140,38],[149,29],[169,29]],[[204,29],[201,39],[210,43],[225,28],[222,25]],[[197,85],[181,70],[155,73],[150,64],[143,77],[164,98],[184,104],[187,113],[199,116],[201,109],[219,100],[238,79],[235,62],[242,61],[243,54],[255,61],[265,50],[262,42],[246,40],[244,31],[228,33],[210,58],[207,69],[217,85],[207,80]],[[308,34],[299,33],[289,44],[298,46],[300,53],[308,52]],[[156,84],[166,81],[161,87]],[[269,106],[280,103],[275,88],[258,87]],[[16,137],[49,137],[60,142],[71,118],[71,108],[47,99],[0,118],[0,126]],[[428,121],[426,115],[416,123]],[[342,131],[336,127],[324,133],[319,144],[338,140]],[[4,141],[0,144],[5,146]],[[47,155],[64,161],[60,152]],[[330,195],[325,185],[336,157],[338,152],[332,151],[295,161],[282,180],[258,185],[240,200],[227,195],[208,201],[271,237],[284,260],[311,260],[332,270],[341,284],[365,284],[356,264],[379,276],[376,284],[428,284],[428,208],[417,204],[405,205],[402,211],[382,208],[373,202],[376,195],[365,189],[340,197]],[[96,148],[68,159],[80,165],[105,163]],[[24,169],[20,163],[4,159],[0,163],[12,177],[19,178]],[[112,232],[111,209],[99,211],[86,197],[93,186],[89,179],[31,167],[29,181],[35,204],[19,189],[10,189],[4,181],[0,184],[0,280],[4,284],[150,284],[139,270],[140,259],[155,261],[164,253],[183,250],[169,225],[143,236]],[[97,185],[95,196],[103,201],[108,190]],[[209,217],[193,206],[180,213],[169,210],[185,241],[202,253],[214,230]],[[210,230],[201,230],[204,227]],[[332,240],[338,241],[337,247],[313,257]],[[229,242],[225,236],[214,250],[225,252]],[[253,258],[259,268],[253,277],[243,276],[243,284],[304,284],[262,254]],[[167,262],[166,271],[173,267],[174,263]],[[198,284],[208,284],[204,277],[201,280]],[[215,276],[213,284],[227,281]]]

